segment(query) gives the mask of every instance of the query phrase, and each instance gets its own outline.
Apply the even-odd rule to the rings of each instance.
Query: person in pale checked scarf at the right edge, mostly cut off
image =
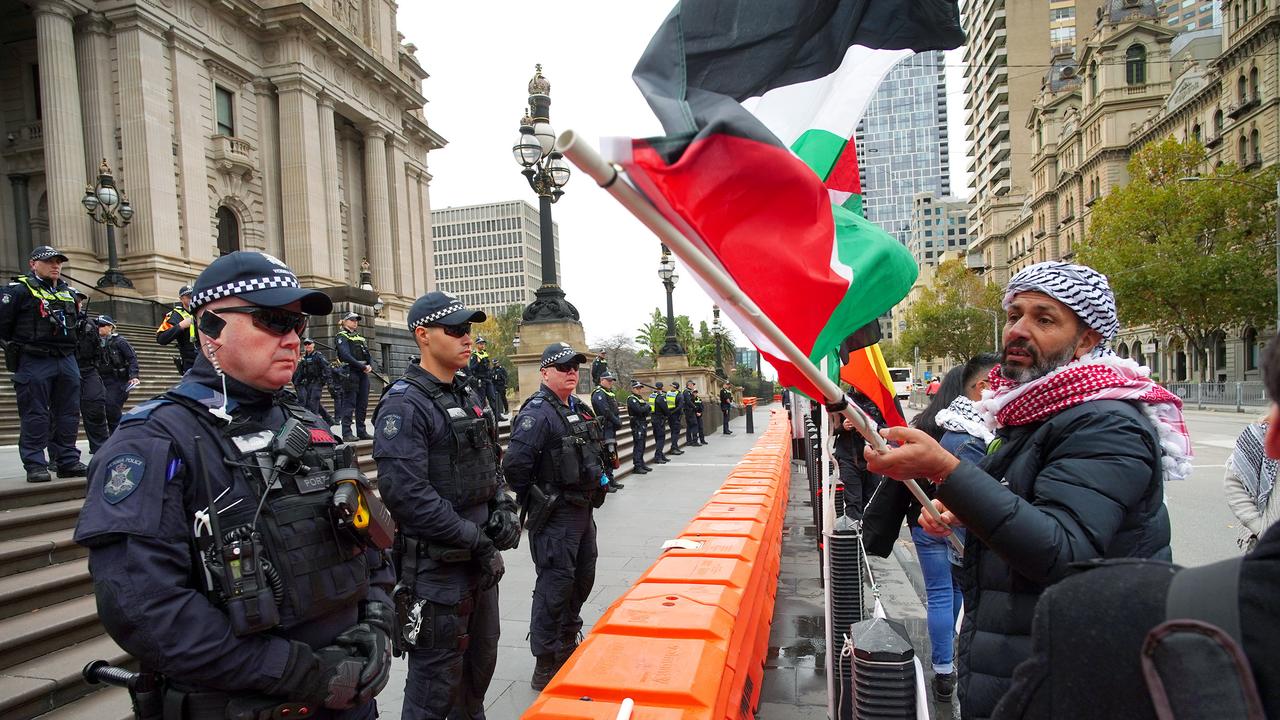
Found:
[[[1222,480],[1226,503],[1240,520],[1239,543],[1245,551],[1253,550],[1258,538],[1280,516],[1280,503],[1271,502],[1277,462],[1263,452],[1268,428],[1267,419],[1244,428],[1235,438],[1235,450],[1226,461],[1226,478]]]

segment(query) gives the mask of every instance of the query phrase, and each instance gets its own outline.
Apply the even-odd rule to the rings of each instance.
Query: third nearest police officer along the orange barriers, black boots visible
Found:
[[[586,355],[567,342],[543,351],[543,383],[512,421],[502,469],[520,497],[538,580],[530,646],[540,691],[577,648],[582,603],[595,584],[595,520],[608,475],[598,421],[573,396]]]

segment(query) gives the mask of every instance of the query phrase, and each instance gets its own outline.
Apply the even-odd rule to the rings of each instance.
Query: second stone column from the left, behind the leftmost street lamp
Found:
[[[84,111],[84,168],[92,170],[102,160],[118,169],[115,123],[111,122],[111,67],[108,29],[102,13],[86,13],[76,19],[76,65],[79,68],[81,108]],[[84,178],[86,182],[88,177]],[[132,201],[132,199],[131,199]],[[90,223],[92,250],[106,256],[106,225]]]

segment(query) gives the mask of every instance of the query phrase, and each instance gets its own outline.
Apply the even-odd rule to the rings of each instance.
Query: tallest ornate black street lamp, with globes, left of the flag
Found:
[[[564,300],[564,291],[556,281],[556,238],[552,234],[552,202],[564,195],[568,183],[568,164],[556,150],[556,131],[552,129],[552,83],[543,77],[543,67],[535,65],[529,81],[529,108],[520,120],[520,137],[511,154],[524,168],[521,174],[529,187],[538,193],[539,234],[543,254],[543,286],[534,293],[534,301],[525,307],[524,322],[579,320],[577,307]]]

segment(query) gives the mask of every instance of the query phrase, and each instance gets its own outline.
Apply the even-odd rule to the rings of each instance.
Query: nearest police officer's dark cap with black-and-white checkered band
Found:
[[[242,297],[265,307],[301,302],[302,311],[308,315],[333,311],[328,295],[301,287],[288,265],[253,250],[237,250],[214,260],[196,278],[192,290],[192,310],[223,297]]]

